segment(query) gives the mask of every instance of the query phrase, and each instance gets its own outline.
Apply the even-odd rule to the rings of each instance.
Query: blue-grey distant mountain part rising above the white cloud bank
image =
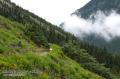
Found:
[[[120,0],[91,0],[73,14],[88,19],[92,14],[95,14],[99,10],[106,15],[112,10],[120,13]]]

